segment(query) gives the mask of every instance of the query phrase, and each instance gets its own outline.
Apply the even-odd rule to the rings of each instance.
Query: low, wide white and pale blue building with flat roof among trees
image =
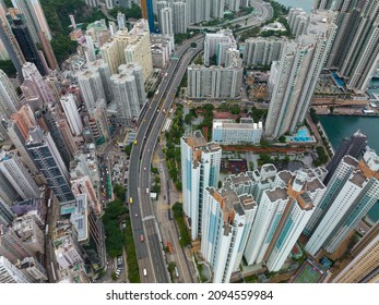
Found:
[[[239,123],[229,119],[213,120],[212,141],[222,144],[259,144],[263,133],[262,122],[241,118]]]

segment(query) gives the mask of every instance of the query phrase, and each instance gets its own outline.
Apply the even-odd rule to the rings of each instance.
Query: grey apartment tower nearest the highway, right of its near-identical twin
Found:
[[[138,119],[145,102],[142,69],[138,64],[122,64],[119,74],[110,76],[114,100],[120,118]]]

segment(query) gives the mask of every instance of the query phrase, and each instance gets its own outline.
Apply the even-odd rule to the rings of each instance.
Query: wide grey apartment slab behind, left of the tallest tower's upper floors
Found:
[[[283,38],[248,38],[245,40],[244,63],[269,65],[281,59],[285,42]]]

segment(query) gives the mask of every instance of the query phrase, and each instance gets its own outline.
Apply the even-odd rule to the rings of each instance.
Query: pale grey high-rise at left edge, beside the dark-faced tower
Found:
[[[24,200],[39,197],[40,191],[16,151],[0,151],[0,171]]]

